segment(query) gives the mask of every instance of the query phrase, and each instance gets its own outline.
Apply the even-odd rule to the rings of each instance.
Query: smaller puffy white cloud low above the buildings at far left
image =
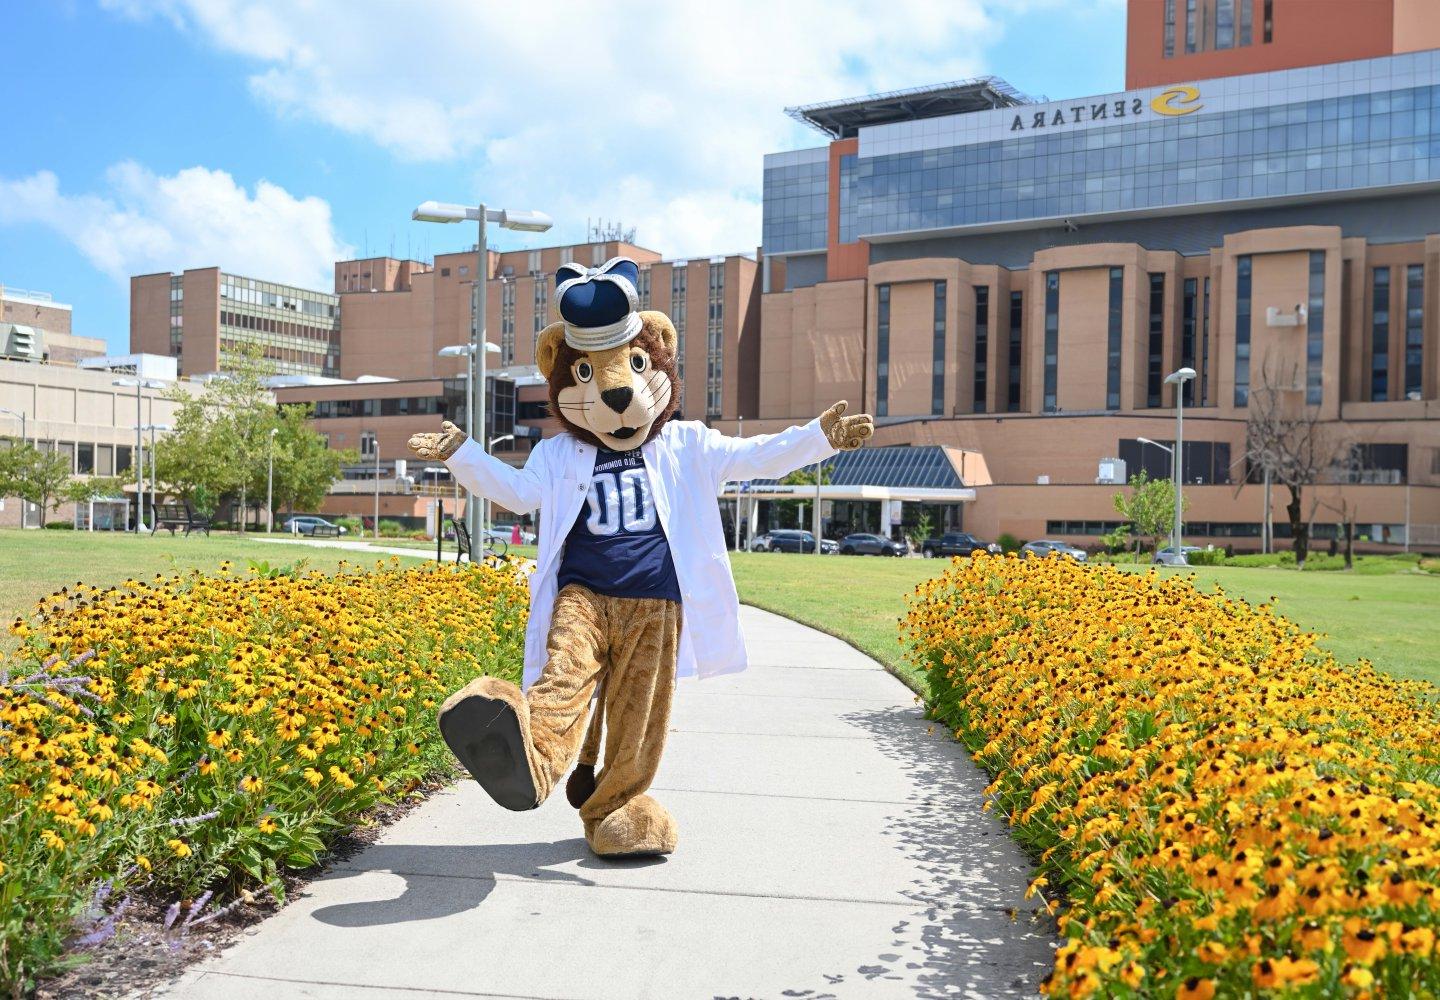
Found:
[[[328,290],[334,262],[354,252],[336,235],[327,202],[265,180],[252,195],[223,170],[189,167],[161,177],[128,161],[105,180],[102,193],[68,195],[49,170],[0,179],[0,223],[48,226],[121,282],[217,265]]]

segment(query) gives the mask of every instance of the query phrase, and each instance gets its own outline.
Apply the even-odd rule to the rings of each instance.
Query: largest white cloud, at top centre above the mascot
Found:
[[[978,75],[1001,30],[984,0],[104,1],[248,59],[279,115],[472,164],[455,199],[621,218],[674,255],[759,241],[762,154],[825,141],[785,105]]]

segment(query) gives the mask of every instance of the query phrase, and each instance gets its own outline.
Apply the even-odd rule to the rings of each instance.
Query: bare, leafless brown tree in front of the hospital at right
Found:
[[[1320,474],[1333,464],[1333,444],[1319,421],[1319,408],[1303,403],[1303,380],[1299,366],[1292,366],[1289,378],[1276,373],[1269,360],[1260,367],[1260,379],[1250,389],[1250,414],[1246,418],[1246,460],[1250,474],[1269,473],[1270,481],[1283,486],[1290,501],[1284,506],[1290,519],[1295,565],[1305,569],[1310,550],[1310,526],[1305,519],[1302,497],[1305,487],[1319,483]]]

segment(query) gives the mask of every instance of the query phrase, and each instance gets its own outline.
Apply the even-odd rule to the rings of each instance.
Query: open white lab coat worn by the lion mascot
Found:
[[[665,529],[680,582],[678,676],[744,670],[740,599],[730,576],[716,501],[720,484],[780,478],[834,454],[818,418],[804,427],[753,438],[727,438],[698,421],[670,421],[654,441],[641,445],[655,513]],[[516,513],[543,510],[526,628],[524,686],[530,687],[546,664],[560,552],[590,486],[595,445],[560,434],[540,441],[524,467],[516,468],[487,455],[469,439],[445,464],[471,493]],[[697,657],[697,650],[703,650],[703,656]]]

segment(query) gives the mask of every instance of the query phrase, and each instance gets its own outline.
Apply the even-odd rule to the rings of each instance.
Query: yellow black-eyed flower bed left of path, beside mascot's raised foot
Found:
[[[108,932],[143,882],[193,898],[315,863],[448,767],[435,709],[478,673],[518,680],[526,607],[508,566],[396,563],[43,601],[0,661],[0,986]]]

